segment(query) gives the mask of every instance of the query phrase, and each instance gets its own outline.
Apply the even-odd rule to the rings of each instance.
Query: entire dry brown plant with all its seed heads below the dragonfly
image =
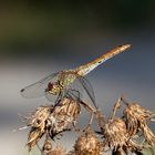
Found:
[[[122,117],[116,116],[117,110],[125,103]],[[79,131],[76,122],[81,113],[81,105],[90,113],[91,117],[81,135],[74,144],[74,149],[66,155],[101,155],[106,151],[112,151],[112,155],[125,155],[128,152],[142,155],[143,148],[155,146],[155,135],[148,127],[148,122],[154,121],[155,113],[143,108],[137,103],[127,103],[125,99],[120,97],[114,104],[112,115],[105,118],[104,114],[97,110],[94,111],[89,104],[63,97],[55,106],[40,106],[30,116],[23,117],[27,126],[31,127],[28,135],[29,152],[38,145],[42,136],[46,136],[41,155],[64,155],[63,147],[53,148],[52,140],[62,135],[65,131]],[[91,130],[90,125],[95,114],[102,142]],[[72,127],[73,125],[73,127]],[[140,144],[138,136],[142,133],[146,143]]]

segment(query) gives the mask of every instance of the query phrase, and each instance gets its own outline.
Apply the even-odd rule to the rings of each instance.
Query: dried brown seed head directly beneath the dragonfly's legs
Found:
[[[69,131],[70,125],[76,122],[80,111],[78,101],[68,97],[62,99],[48,118],[49,135],[53,138],[55,135]]]

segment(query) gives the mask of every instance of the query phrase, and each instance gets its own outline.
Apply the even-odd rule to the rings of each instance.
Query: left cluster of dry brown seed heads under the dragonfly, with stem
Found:
[[[54,140],[56,136],[62,136],[63,132],[71,131],[71,125],[73,125],[73,131],[80,131],[76,127],[76,121],[81,113],[81,105],[91,113],[90,121],[85,126],[87,128],[92,123],[94,110],[82,101],[69,97],[63,97],[55,106],[40,106],[30,116],[24,116],[27,127],[31,127],[27,143],[29,152],[38,145],[44,135]]]

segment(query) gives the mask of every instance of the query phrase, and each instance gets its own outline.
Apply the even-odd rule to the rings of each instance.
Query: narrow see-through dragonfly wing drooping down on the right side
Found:
[[[87,93],[87,95],[91,99],[92,103],[94,104],[95,108],[97,108],[96,103],[95,103],[95,94],[94,94],[94,90],[93,90],[91,82],[84,76],[79,76],[78,80],[84,87],[85,92]]]

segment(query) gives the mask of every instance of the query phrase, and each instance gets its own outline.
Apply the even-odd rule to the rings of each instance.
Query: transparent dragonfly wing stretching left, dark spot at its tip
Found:
[[[31,84],[31,85],[22,89],[20,91],[21,95],[23,97],[30,97],[30,99],[45,95],[45,89],[48,87],[49,82],[56,81],[58,74],[59,74],[59,72],[52,73],[49,76],[40,80],[39,82],[35,82],[34,84]]]

